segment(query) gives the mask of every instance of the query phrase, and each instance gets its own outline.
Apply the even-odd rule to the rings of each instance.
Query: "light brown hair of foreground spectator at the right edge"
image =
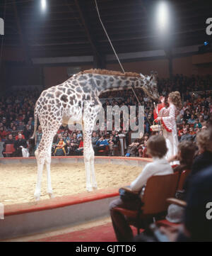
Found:
[[[197,133],[196,143],[202,150],[212,152],[212,129],[201,130]]]

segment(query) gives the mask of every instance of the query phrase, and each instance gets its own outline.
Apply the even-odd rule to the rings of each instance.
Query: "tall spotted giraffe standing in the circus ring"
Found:
[[[61,124],[65,126],[71,119],[81,121],[83,128],[83,156],[86,169],[86,189],[97,189],[94,169],[94,151],[91,143],[91,133],[95,120],[102,108],[99,96],[105,91],[142,88],[148,96],[158,99],[158,89],[155,74],[144,76],[133,72],[114,72],[106,69],[89,69],[73,74],[66,82],[42,91],[35,103],[35,128],[32,138],[35,138],[37,118],[42,126],[42,139],[35,151],[37,159],[37,184],[35,199],[40,200],[42,170],[47,169],[47,194],[52,198],[51,185],[51,148],[54,135]]]

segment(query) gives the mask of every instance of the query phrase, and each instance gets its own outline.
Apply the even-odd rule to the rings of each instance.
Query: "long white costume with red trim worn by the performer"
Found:
[[[163,124],[163,135],[166,140],[167,145],[167,155],[166,158],[172,157],[177,154],[177,125],[176,118],[178,115],[177,108],[174,104],[170,104],[168,108],[162,108],[159,112],[159,116],[162,117]],[[177,164],[178,162],[173,162],[172,164]]]

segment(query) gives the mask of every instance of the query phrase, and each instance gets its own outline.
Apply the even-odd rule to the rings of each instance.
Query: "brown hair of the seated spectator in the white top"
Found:
[[[147,154],[152,157],[162,158],[167,153],[165,138],[161,135],[153,135],[147,140]]]

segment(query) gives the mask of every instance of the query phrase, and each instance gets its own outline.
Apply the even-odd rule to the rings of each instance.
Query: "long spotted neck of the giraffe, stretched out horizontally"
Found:
[[[98,96],[106,91],[131,89],[132,86],[141,87],[144,84],[139,77],[92,74],[92,79],[98,89]]]

